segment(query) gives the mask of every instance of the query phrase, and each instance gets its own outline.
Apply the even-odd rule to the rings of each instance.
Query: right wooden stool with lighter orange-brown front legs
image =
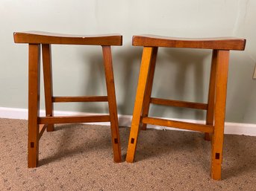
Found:
[[[211,177],[219,180],[221,178],[229,51],[243,51],[246,40],[236,38],[178,39],[147,35],[133,36],[133,45],[143,46],[144,48],[126,161],[129,163],[134,161],[140,123],[143,123],[143,129],[146,129],[146,124],[152,124],[205,132],[205,137],[208,140],[210,140],[210,135],[213,135]],[[158,47],[203,48],[213,50],[208,103],[191,103],[151,97]],[[206,125],[148,117],[150,103],[164,106],[205,109],[207,111]]]

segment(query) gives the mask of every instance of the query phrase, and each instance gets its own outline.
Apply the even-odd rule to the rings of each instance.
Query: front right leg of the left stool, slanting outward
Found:
[[[107,100],[110,112],[110,126],[112,135],[113,146],[113,158],[116,163],[122,162],[121,149],[120,149],[120,137],[119,137],[119,125],[116,109],[116,93],[115,83],[113,78],[113,66],[110,46],[102,46],[104,57],[104,71],[107,84]]]

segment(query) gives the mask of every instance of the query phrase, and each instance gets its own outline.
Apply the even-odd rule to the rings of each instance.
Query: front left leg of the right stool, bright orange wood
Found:
[[[143,48],[143,57],[140,65],[140,75],[137,85],[137,94],[134,103],[134,114],[131,121],[131,132],[126,155],[126,162],[128,163],[132,163],[134,161],[134,154],[137,146],[137,137],[139,134],[140,114],[143,107],[143,99],[146,90],[146,82],[148,79],[150,62],[152,59],[152,52],[153,48]]]

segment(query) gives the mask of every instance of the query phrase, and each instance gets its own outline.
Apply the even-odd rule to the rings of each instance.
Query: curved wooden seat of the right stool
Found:
[[[243,51],[246,47],[246,39],[234,37],[186,39],[167,36],[140,35],[133,36],[132,45],[169,48],[205,48],[215,50]]]

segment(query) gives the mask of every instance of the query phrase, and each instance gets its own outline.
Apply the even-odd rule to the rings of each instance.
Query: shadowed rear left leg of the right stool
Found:
[[[154,80],[154,68],[157,60],[157,49],[158,47],[153,48],[152,59],[151,59],[151,64],[149,68],[149,77],[147,80],[146,91],[145,91],[144,101],[143,101],[142,117],[148,117],[149,115],[149,105],[150,105],[150,98],[152,94],[152,86],[153,86],[153,80]],[[146,126],[147,124],[143,123],[141,129],[146,130]]]

